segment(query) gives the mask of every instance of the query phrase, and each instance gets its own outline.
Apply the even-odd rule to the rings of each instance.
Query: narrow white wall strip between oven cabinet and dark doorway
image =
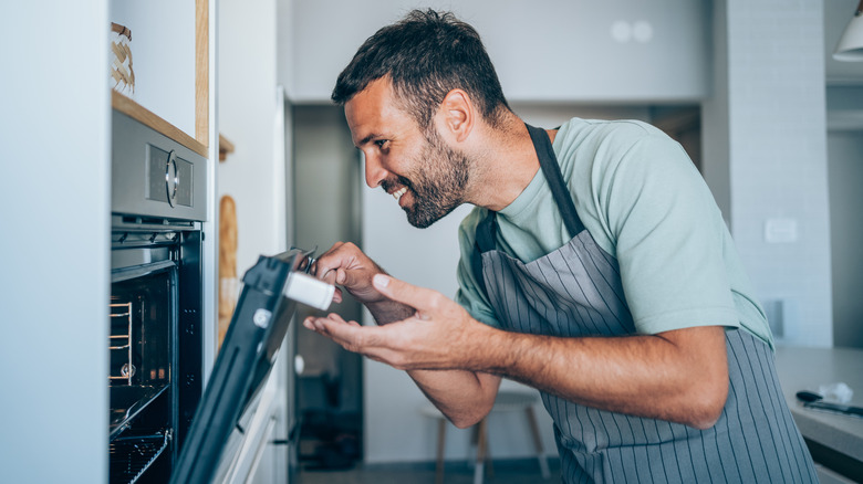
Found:
[[[219,164],[218,199],[237,203],[237,274],[284,250],[284,166],[274,161],[275,0],[219,4],[219,131],[236,151]]]

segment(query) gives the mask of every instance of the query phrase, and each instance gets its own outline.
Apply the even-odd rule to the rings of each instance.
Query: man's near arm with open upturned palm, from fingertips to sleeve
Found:
[[[699,429],[713,425],[725,406],[728,366],[722,327],[611,338],[518,334],[476,322],[430,290],[383,275],[375,277],[374,286],[415,307],[416,314],[377,328],[332,316],[310,318],[306,325],[395,368],[506,376],[585,406]],[[481,383],[474,388],[481,394]],[[454,419],[471,414],[469,408],[479,401],[474,400],[476,393],[459,394],[458,388],[450,393],[440,408],[457,409],[447,413]]]

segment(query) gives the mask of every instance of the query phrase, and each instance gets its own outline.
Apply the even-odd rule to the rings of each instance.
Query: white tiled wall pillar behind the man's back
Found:
[[[783,301],[781,341],[831,346],[822,3],[722,0],[706,178],[762,302]],[[722,25],[724,24],[724,25]],[[714,138],[718,137],[718,143]],[[727,182],[726,182],[726,177]],[[768,222],[796,224],[769,243]]]

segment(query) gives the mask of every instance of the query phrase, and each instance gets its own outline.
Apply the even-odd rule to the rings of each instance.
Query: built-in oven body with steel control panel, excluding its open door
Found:
[[[201,397],[207,159],[112,120],[111,483],[168,482]]]

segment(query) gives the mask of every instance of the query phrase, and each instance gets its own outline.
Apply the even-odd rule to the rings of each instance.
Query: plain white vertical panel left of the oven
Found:
[[[0,7],[0,481],[107,482],[107,0]]]

